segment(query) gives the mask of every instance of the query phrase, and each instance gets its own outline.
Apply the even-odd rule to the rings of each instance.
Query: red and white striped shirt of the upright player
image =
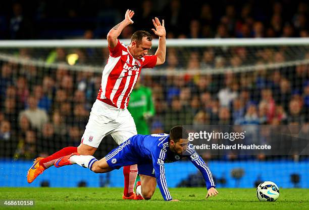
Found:
[[[115,48],[110,48],[110,57],[102,73],[101,87],[97,99],[117,108],[127,108],[130,94],[142,68],[153,68],[156,55],[145,55],[135,59],[128,48],[118,40]]]

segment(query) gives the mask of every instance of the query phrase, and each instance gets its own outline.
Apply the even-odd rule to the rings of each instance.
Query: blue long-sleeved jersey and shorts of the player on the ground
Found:
[[[187,157],[199,169],[204,177],[207,189],[215,187],[215,182],[209,168],[194,151],[193,147],[191,147],[192,145],[188,145],[187,150],[182,155],[179,155],[169,149],[169,138],[170,136],[164,133],[151,135],[137,134],[120,145],[119,148],[121,149],[115,149],[115,151],[124,151],[128,165],[152,164],[158,186],[165,200],[171,200],[172,196],[167,187],[164,164],[179,161],[182,157]],[[115,151],[110,153],[112,155],[106,156],[107,161],[113,160],[113,157],[115,157],[113,154],[116,154]],[[112,165],[109,161],[108,163]],[[114,162],[116,161],[114,158]]]

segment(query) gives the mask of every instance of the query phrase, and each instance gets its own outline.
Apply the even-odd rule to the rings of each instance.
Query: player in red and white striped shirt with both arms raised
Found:
[[[137,134],[134,120],[127,109],[130,94],[142,68],[153,68],[165,62],[166,31],[164,20],[152,20],[153,33],[159,36],[159,46],[155,55],[148,55],[152,37],[147,31],[136,31],[131,43],[125,46],[118,40],[121,31],[133,24],[134,11],[127,10],[125,19],[113,27],[107,35],[110,56],[102,72],[101,87],[94,102],[88,123],[78,147],[66,147],[46,158],[36,158],[27,174],[29,183],[45,169],[54,165],[56,159],[78,152],[82,155],[93,155],[102,138],[111,134],[120,145],[129,137]],[[124,167],[124,199],[133,199],[137,166]]]

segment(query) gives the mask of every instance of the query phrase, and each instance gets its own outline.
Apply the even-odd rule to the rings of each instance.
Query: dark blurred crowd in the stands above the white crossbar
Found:
[[[105,38],[128,8],[135,11],[134,24],[122,38],[150,31],[155,16],[165,19],[168,38],[308,37],[309,32],[306,1],[5,1],[0,39],[79,38],[87,30]]]

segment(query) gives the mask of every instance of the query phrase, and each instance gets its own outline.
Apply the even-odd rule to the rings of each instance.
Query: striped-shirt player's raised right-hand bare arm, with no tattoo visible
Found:
[[[155,53],[155,55],[157,55],[156,65],[161,65],[165,62],[165,56],[166,56],[166,38],[165,38],[166,31],[164,27],[164,20],[162,20],[162,25],[158,18],[155,18],[155,20],[152,19],[152,23],[156,29],[151,30],[153,31],[153,33],[159,36],[159,45]]]

